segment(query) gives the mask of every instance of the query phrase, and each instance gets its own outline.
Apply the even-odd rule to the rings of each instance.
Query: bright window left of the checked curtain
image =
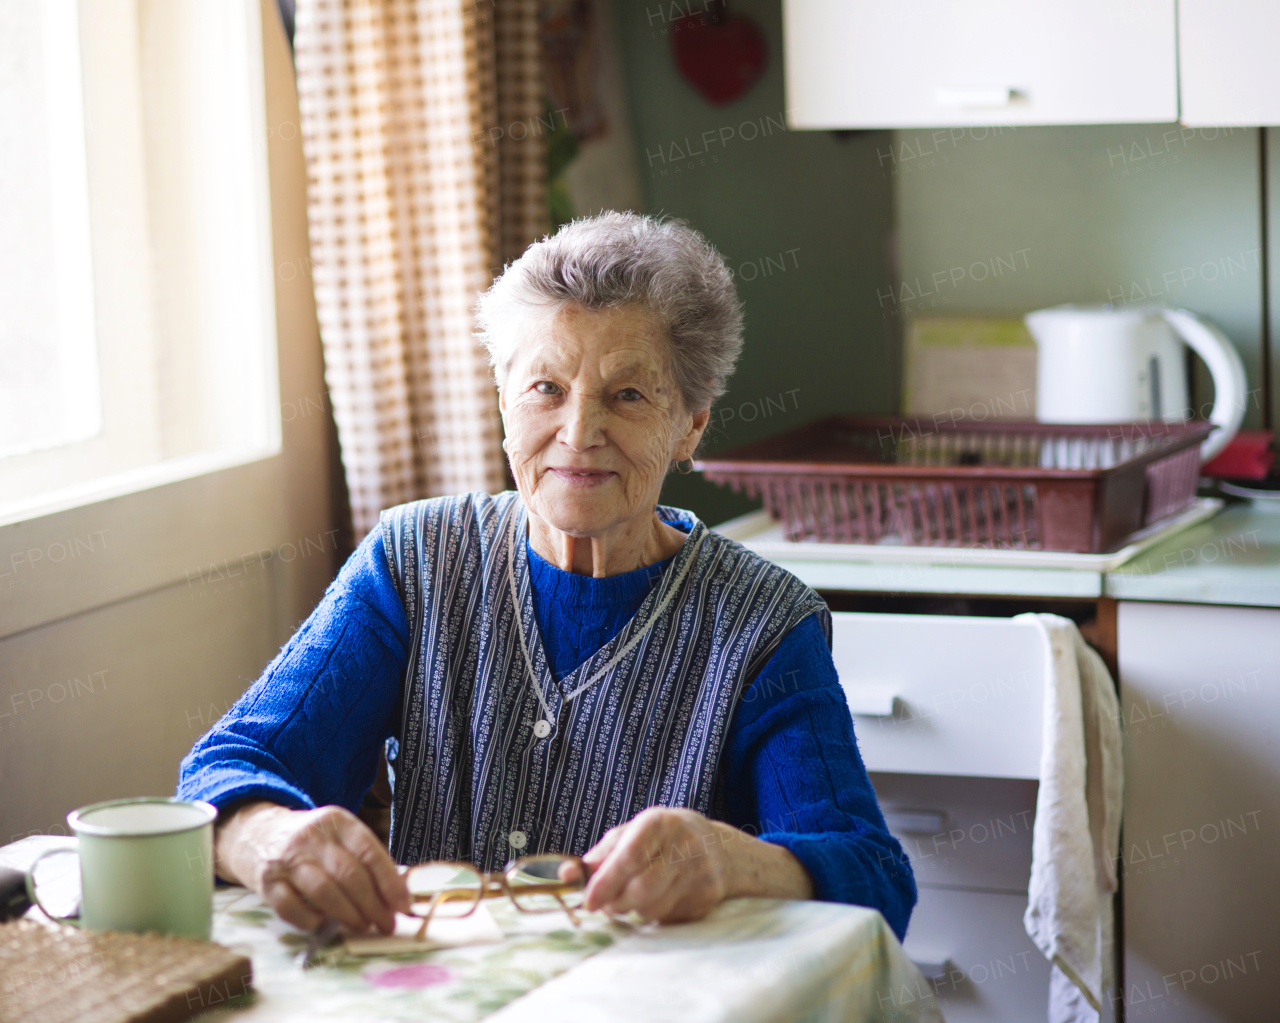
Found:
[[[279,451],[260,31],[0,0],[0,522]]]

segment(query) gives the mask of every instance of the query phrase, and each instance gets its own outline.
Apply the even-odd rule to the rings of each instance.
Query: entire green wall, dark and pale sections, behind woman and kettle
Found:
[[[686,218],[726,252],[746,305],[746,350],[705,451],[823,414],[893,411],[913,314],[1164,302],[1216,321],[1261,387],[1257,129],[788,132],[778,0],[735,0],[733,14],[763,28],[769,63],[721,108],[675,68],[672,4],[613,10],[645,209]],[[1268,207],[1280,223],[1277,165],[1274,152]],[[982,278],[979,264],[998,273]],[[943,283],[918,294],[934,274]],[[1212,393],[1203,371],[1194,391]],[[1254,396],[1245,425],[1262,421]],[[751,507],[696,475],[672,478],[663,499],[710,522]]]

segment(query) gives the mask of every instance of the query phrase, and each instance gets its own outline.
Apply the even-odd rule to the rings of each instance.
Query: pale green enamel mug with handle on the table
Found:
[[[214,913],[214,819],[209,803],[184,799],[116,799],[67,814],[81,866],[79,923],[90,931],[156,931],[209,940]],[[27,892],[40,901],[35,869]]]

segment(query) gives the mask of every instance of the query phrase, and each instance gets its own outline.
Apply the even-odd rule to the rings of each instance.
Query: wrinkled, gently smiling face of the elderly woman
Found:
[[[539,318],[502,389],[507,457],[529,508],[571,536],[649,516],[708,414],[684,408],[669,342],[641,306]]]

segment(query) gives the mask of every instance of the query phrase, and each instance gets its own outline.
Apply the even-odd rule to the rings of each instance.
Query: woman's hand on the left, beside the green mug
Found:
[[[342,807],[291,810],[244,803],[219,821],[219,877],[252,889],[289,923],[335,919],[348,933],[390,933],[408,887],[378,836]]]

